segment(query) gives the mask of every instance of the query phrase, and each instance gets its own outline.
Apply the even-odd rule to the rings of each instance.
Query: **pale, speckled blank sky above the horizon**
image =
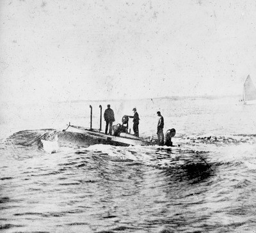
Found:
[[[0,101],[242,94],[256,2],[1,0]]]

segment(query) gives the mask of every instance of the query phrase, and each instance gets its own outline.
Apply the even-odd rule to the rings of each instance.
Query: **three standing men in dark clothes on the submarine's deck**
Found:
[[[115,114],[114,111],[110,108],[110,105],[107,105],[108,109],[105,110],[104,112],[104,120],[106,121],[106,129],[105,133],[108,134],[108,128],[109,128],[109,135],[112,135],[112,126],[113,122],[115,121]],[[139,114],[137,112],[137,109],[134,108],[132,109],[134,112],[133,116],[129,116],[130,118],[133,118],[133,132],[134,136],[139,137]],[[159,117],[158,123],[157,123],[157,139],[159,142],[159,145],[164,144],[164,133],[163,133],[163,128],[164,128],[164,117],[161,115],[161,112],[157,112],[157,116]]]

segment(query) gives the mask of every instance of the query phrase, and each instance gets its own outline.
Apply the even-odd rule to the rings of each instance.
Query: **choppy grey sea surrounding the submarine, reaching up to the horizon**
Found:
[[[137,107],[141,137],[160,110],[176,147],[42,144],[108,103],[115,123]],[[1,103],[0,231],[256,232],[255,116],[237,98]]]

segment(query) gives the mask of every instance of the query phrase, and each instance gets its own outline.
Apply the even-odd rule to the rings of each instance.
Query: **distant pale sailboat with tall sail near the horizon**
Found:
[[[254,86],[250,75],[248,75],[244,82],[243,101],[244,104],[256,104],[256,87]]]

